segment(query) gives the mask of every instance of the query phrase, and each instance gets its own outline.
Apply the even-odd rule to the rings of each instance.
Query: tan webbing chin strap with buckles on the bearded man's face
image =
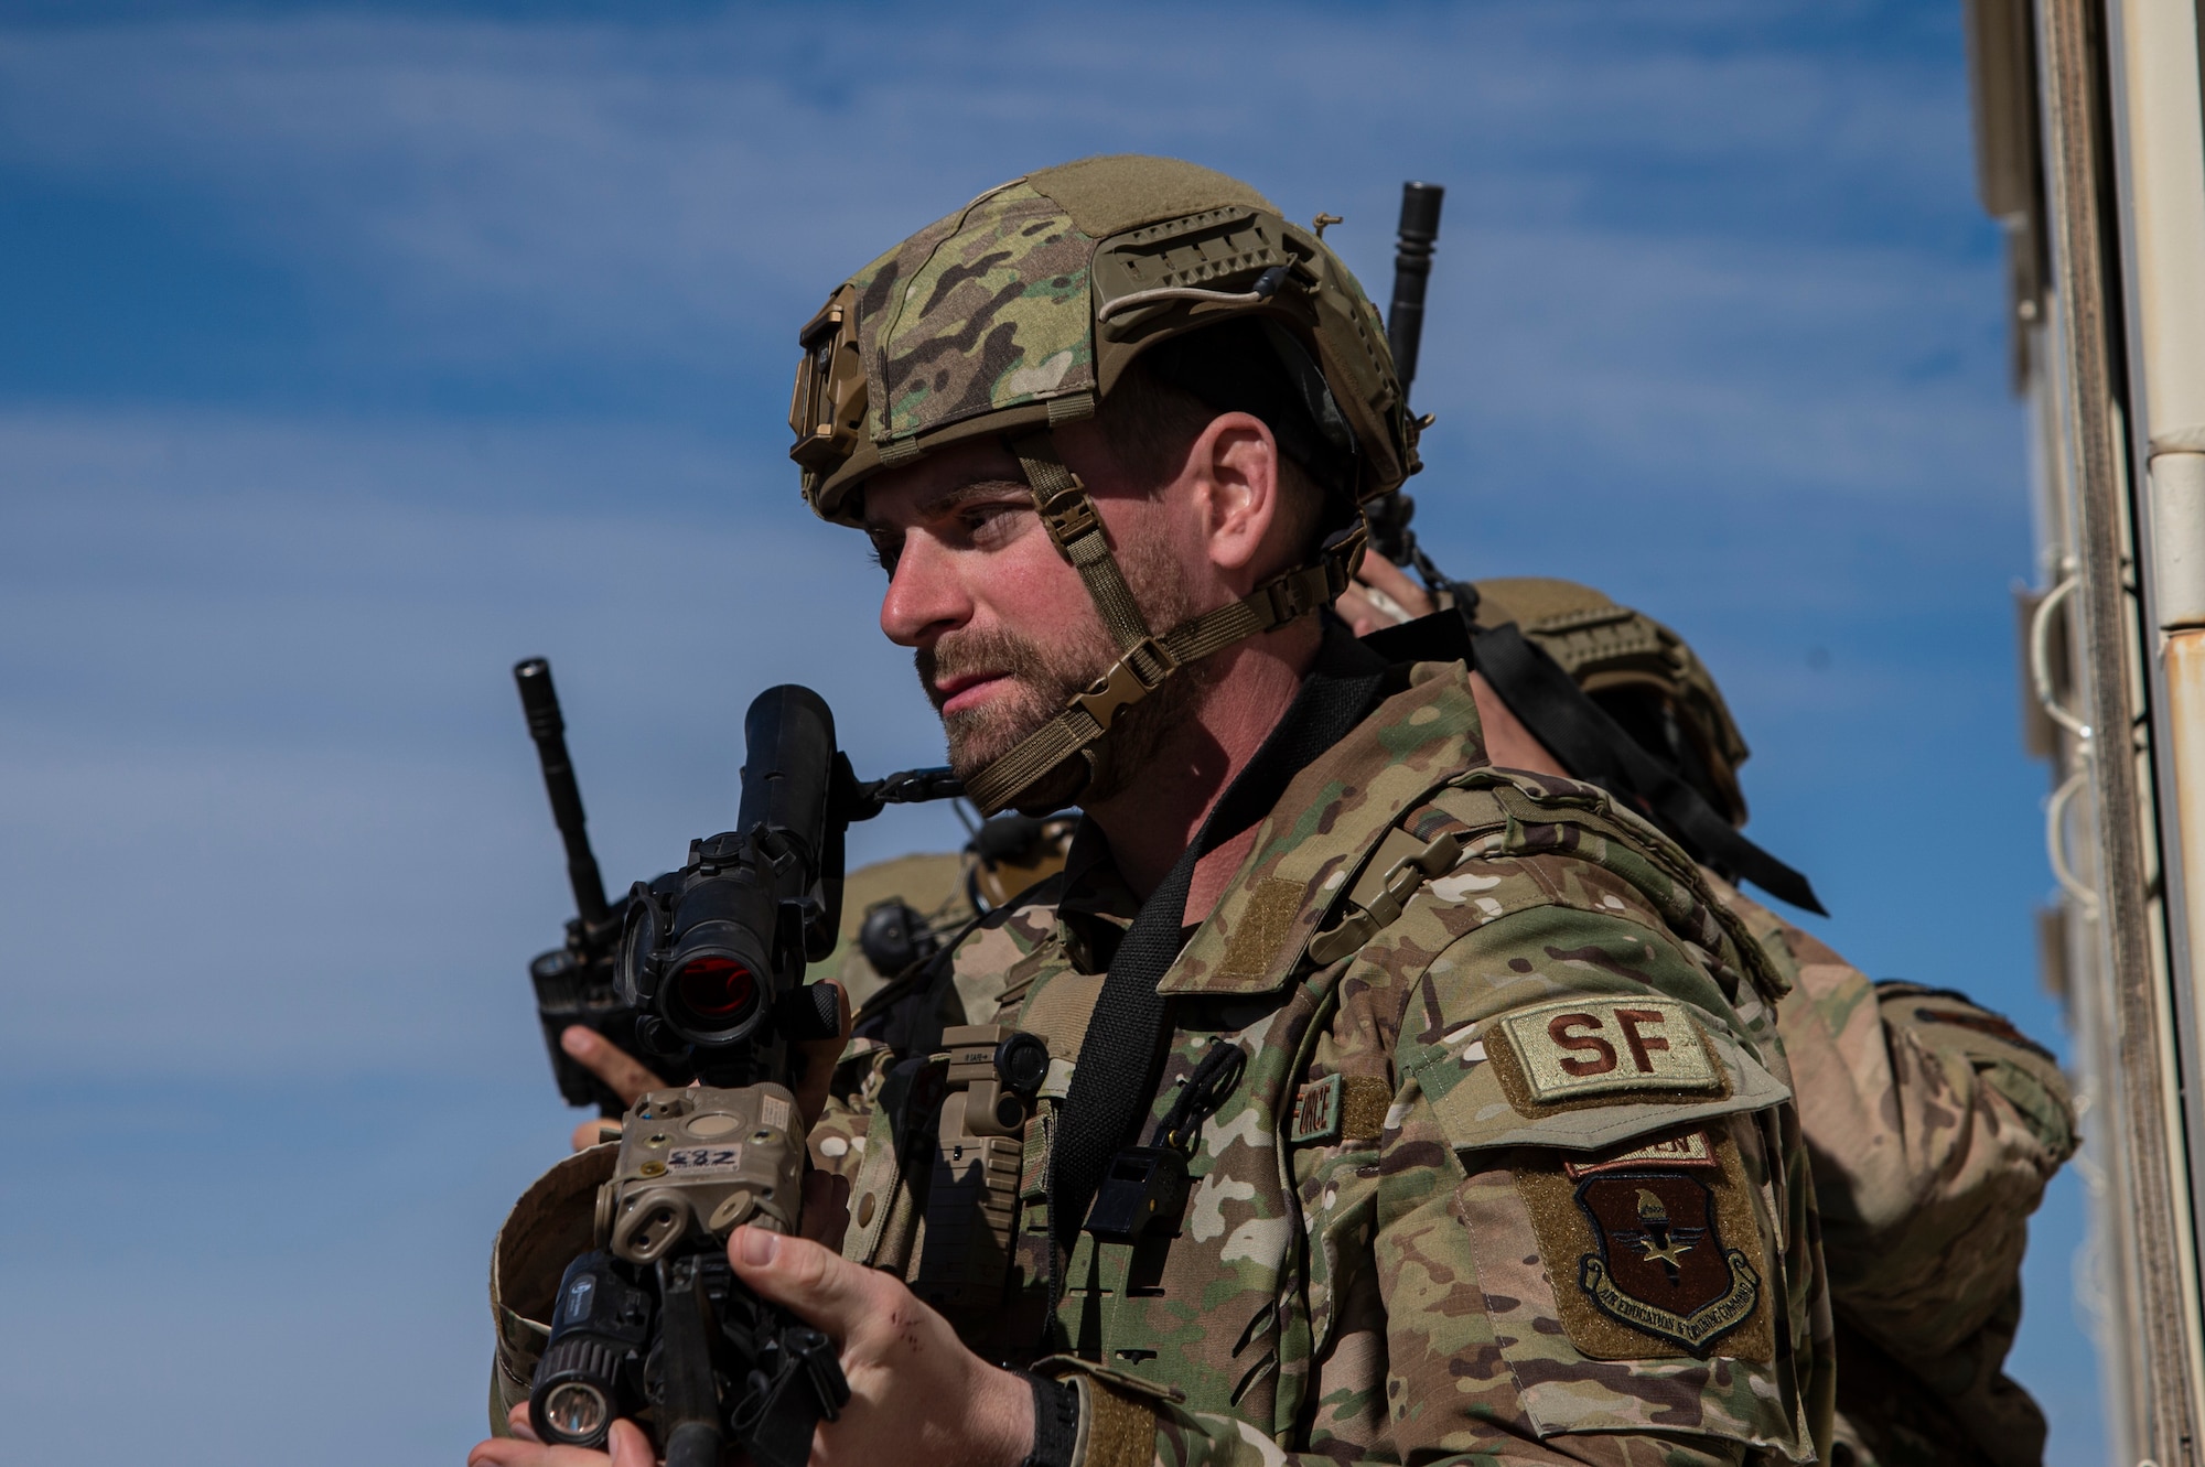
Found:
[[[1109,548],[1087,485],[1065,467],[1050,430],[1012,438],[1010,452],[1019,456],[1025,482],[1034,489],[1034,509],[1041,511],[1050,542],[1080,573],[1105,630],[1118,645],[1118,661],[1045,725],[966,780],[966,797],[981,815],[1014,806],[1019,795],[1076,753],[1089,756],[1091,780],[1096,749],[1125,709],[1162,687],[1180,667],[1330,606],[1347,590],[1363,559],[1369,531],[1358,511],[1354,526],[1334,535],[1314,564],[1274,575],[1239,601],[1188,617],[1158,637],[1140,615],[1133,588],[1127,586],[1125,570]]]

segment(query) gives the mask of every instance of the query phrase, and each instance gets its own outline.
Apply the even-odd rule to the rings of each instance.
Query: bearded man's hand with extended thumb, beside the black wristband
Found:
[[[842,1346],[849,1405],[820,1423],[814,1467],[1012,1467],[1032,1452],[1034,1388],[972,1355],[902,1280],[756,1227],[734,1229],[728,1260]]]

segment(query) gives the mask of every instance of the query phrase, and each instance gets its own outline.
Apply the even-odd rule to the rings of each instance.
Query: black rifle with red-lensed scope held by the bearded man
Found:
[[[717,1467],[728,1445],[800,1467],[849,1401],[833,1341],[750,1293],[728,1234],[798,1227],[792,1044],[838,1031],[833,989],[805,967],[836,945],[849,822],[961,791],[948,771],[856,780],[809,687],[759,694],[743,736],[736,828],[635,883],[613,958],[637,1037],[703,1084],[628,1110],[595,1247],[567,1264],[529,1390],[542,1441],[598,1447],[615,1416],[639,1416],[666,1467]]]

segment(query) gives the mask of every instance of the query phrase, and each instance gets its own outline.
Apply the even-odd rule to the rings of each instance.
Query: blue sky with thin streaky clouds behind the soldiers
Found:
[[[728,822],[767,683],[820,687],[860,769],[935,758],[880,573],[796,498],[794,330],[1087,152],[1341,214],[1380,293],[1400,181],[1446,183],[1427,544],[1678,626],[1817,927],[2057,1035],[1956,7],[635,13],[0,4],[26,1460],[459,1460],[490,1231],[569,1126],[523,978],[562,868],[507,667],[553,659],[615,883]],[[2053,1460],[2099,1456],[2077,1242],[2068,1176],[2015,1366]],[[141,1352],[117,1410],[82,1361]],[[340,1397],[370,1379],[362,1432]]]

